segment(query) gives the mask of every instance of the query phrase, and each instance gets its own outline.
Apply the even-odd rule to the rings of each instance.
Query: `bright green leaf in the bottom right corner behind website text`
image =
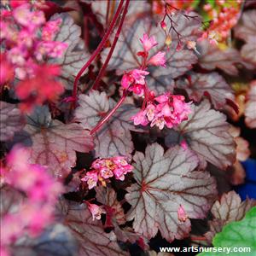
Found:
[[[224,229],[214,236],[212,241],[214,249],[230,248],[230,255],[232,256],[244,256],[244,255],[256,255],[256,207],[253,207],[247,212],[246,217],[241,221],[235,221],[224,226]],[[234,252],[233,250],[241,250],[243,252]],[[250,247],[250,252],[246,252],[245,249]],[[224,256],[225,252],[205,252],[199,253],[198,256]]]

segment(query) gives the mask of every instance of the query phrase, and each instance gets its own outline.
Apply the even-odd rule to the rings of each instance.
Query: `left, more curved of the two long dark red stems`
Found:
[[[118,20],[119,14],[121,13],[122,7],[123,7],[123,3],[125,0],[121,0],[119,3],[119,7],[116,11],[116,13],[113,16],[113,20],[110,23],[110,26],[108,27],[108,31],[105,33],[104,37],[102,38],[101,43],[98,45],[98,47],[96,48],[96,50],[93,52],[92,55],[90,55],[90,59],[84,64],[84,67],[82,67],[79,71],[79,73],[77,74],[74,83],[73,83],[73,99],[74,99],[74,106],[75,103],[77,101],[77,92],[78,92],[78,83],[79,83],[79,79],[82,76],[82,74],[84,73],[84,70],[90,66],[90,63],[92,61],[94,61],[94,59],[96,58],[96,56],[100,53],[100,51],[102,50],[103,46],[106,44],[110,33],[113,31],[113,27],[116,23],[116,21]]]

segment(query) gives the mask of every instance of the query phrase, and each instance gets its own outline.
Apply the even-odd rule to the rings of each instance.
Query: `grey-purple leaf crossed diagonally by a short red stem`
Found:
[[[105,92],[90,92],[89,96],[79,96],[79,108],[75,111],[76,120],[82,123],[84,128],[92,129],[102,119],[104,114],[113,108],[115,102],[109,99]],[[137,113],[137,109],[130,104],[125,104],[110,118],[108,123],[96,132],[96,156],[110,157],[113,155],[131,154],[133,143],[131,131],[138,131],[132,125],[131,116]]]

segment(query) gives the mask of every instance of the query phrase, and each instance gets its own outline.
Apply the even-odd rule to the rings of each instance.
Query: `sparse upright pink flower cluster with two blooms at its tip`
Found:
[[[143,44],[144,51],[137,52],[137,55],[143,57],[143,65],[141,69],[133,69],[125,73],[121,80],[121,85],[125,90],[132,91],[138,96],[143,96],[146,86],[145,76],[149,74],[149,72],[144,69],[148,65],[166,67],[166,53],[159,51],[148,60],[148,51],[157,45],[157,42],[154,37],[148,38],[146,33],[143,34],[143,38],[141,38],[140,41]]]

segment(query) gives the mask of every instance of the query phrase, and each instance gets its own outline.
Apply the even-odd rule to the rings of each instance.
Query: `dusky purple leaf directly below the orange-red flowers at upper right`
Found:
[[[236,76],[238,69],[236,64],[242,62],[241,56],[236,49],[218,49],[218,46],[210,44],[207,40],[198,43],[198,51],[201,53],[199,56],[199,64],[207,70],[214,70],[219,68],[224,73]],[[245,63],[242,63],[243,65]]]

